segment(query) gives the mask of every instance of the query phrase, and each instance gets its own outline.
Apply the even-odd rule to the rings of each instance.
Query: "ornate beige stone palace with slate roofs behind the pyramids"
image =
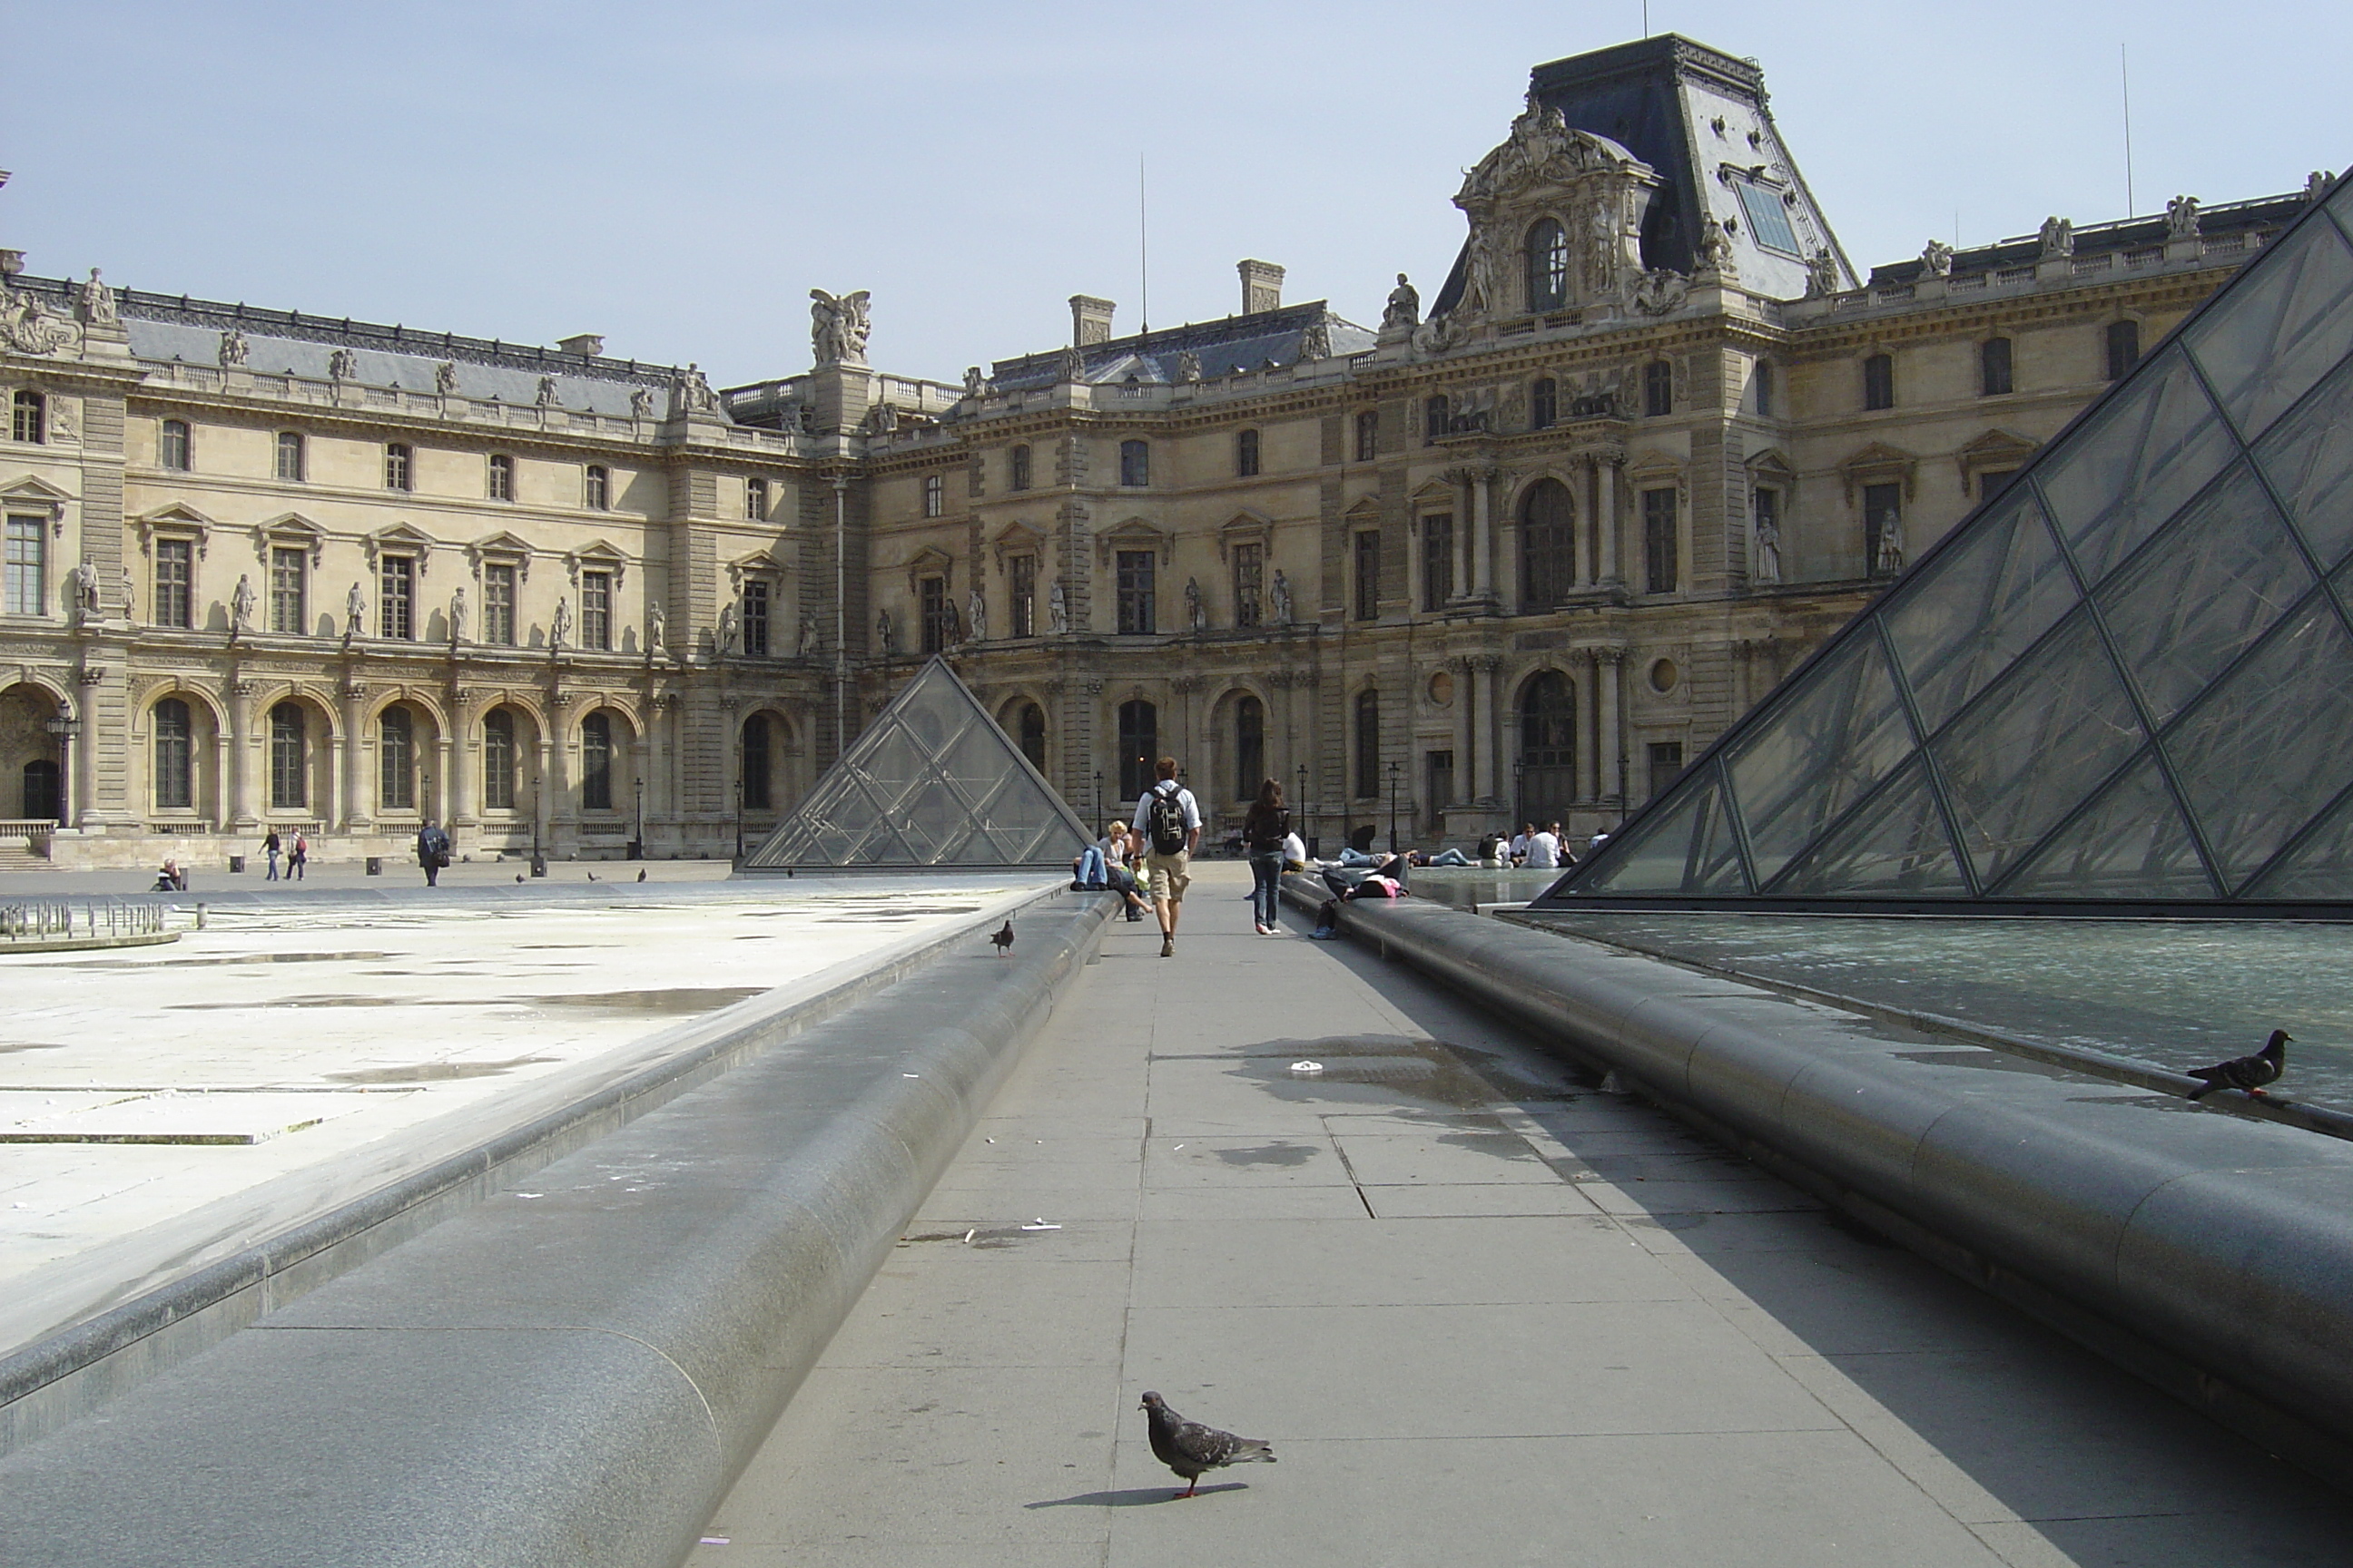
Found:
[[[0,837],[729,856],[929,654],[1096,820],[1174,752],[1327,846],[1593,832],[2327,183],[1866,275],[1753,63],[1652,38],[1497,125],[1428,301],[1242,261],[960,383],[871,367],[864,294],[715,390],[0,252]]]

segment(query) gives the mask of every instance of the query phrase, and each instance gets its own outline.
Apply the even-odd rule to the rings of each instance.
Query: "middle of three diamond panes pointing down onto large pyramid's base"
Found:
[[[2000,882],[2146,741],[2092,616],[2075,611],[1932,748],[1979,882]]]

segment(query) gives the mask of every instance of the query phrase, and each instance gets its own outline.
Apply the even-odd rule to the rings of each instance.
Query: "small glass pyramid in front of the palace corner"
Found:
[[[934,658],[744,870],[816,865],[1068,872],[1087,827],[979,698]]]

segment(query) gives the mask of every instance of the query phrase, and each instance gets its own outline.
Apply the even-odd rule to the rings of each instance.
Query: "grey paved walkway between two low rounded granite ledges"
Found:
[[[2318,1483],[1245,886],[1108,929],[696,1568],[2344,1559]],[[1172,1502],[1144,1389],[1278,1465]]]

